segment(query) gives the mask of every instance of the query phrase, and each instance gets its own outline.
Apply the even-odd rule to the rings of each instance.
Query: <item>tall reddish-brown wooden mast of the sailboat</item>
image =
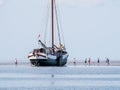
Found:
[[[52,49],[54,52],[54,0],[51,0]]]

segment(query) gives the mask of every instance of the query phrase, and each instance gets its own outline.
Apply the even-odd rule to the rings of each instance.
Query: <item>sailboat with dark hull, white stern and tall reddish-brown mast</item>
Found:
[[[41,48],[34,49],[28,55],[30,63],[34,66],[64,66],[67,63],[69,55],[66,51],[65,46],[60,41],[58,43],[59,46],[56,46],[54,43],[54,14],[55,0],[51,0],[51,46],[47,46],[41,40],[38,40]]]

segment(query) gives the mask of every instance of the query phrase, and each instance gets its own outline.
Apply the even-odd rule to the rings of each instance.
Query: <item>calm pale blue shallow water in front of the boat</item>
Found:
[[[0,90],[120,90],[120,66],[0,66]]]

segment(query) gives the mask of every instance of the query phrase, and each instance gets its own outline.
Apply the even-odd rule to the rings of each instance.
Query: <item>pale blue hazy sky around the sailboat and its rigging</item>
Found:
[[[56,0],[69,60],[120,60],[120,0]],[[0,62],[28,61],[50,0],[0,0]]]

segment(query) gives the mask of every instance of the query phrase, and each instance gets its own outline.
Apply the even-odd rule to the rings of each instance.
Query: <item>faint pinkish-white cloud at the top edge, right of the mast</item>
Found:
[[[106,3],[108,0],[58,0],[59,4],[79,5],[81,7],[96,6]]]

